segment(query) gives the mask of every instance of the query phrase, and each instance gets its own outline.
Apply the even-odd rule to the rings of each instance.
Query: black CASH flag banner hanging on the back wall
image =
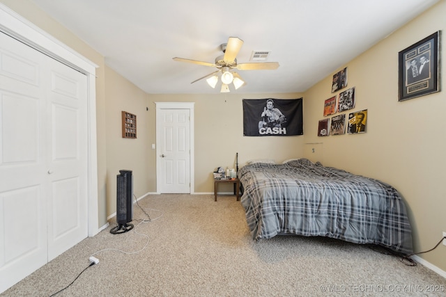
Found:
[[[243,99],[243,136],[304,134],[303,99]]]

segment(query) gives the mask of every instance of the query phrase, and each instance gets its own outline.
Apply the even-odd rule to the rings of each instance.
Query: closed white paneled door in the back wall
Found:
[[[160,193],[190,193],[190,110],[161,109],[157,134]]]

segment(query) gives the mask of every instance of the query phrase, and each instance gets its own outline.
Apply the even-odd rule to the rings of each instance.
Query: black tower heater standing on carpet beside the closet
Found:
[[[119,170],[116,180],[116,222],[110,233],[119,234],[133,229],[133,176],[132,170]]]

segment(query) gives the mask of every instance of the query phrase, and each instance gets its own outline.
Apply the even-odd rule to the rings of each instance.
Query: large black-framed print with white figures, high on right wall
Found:
[[[440,31],[398,53],[398,101],[440,91]]]

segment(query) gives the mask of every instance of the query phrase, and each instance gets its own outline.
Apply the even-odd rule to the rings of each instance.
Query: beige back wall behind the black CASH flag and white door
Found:
[[[204,86],[204,88],[208,88],[208,86]],[[299,93],[150,95],[148,99],[148,106],[151,106],[150,141],[155,143],[155,102],[195,102],[195,192],[213,193],[213,170],[218,166],[236,168],[237,152],[239,167],[245,165],[249,159],[270,158],[279,162],[289,157],[303,156],[302,143],[304,136],[243,136],[242,100],[298,99],[301,97],[302,94]],[[155,170],[155,151],[151,151],[149,166]],[[154,175],[155,171],[152,173]],[[155,188],[156,181],[153,184],[153,191],[155,191]],[[222,191],[225,191],[223,186]]]

